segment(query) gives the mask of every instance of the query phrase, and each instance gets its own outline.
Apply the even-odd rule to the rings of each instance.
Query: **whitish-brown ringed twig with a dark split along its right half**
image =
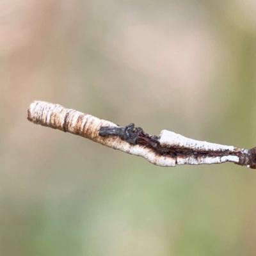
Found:
[[[140,127],[134,127],[134,124],[120,127],[95,116],[63,108],[58,104],[33,102],[28,109],[28,120],[144,157],[150,163],[159,166],[232,162],[256,167],[256,147],[246,150],[197,141],[166,130],[161,131],[159,136],[151,136]]]

